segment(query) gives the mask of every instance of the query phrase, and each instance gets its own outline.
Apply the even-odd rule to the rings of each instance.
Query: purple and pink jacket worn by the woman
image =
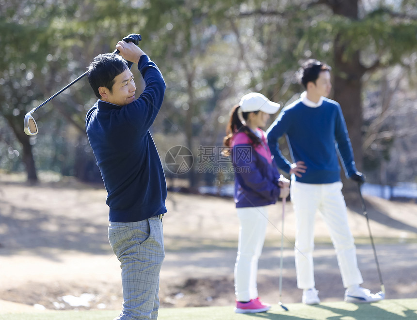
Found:
[[[257,146],[252,146],[252,141],[244,132],[232,138],[236,208],[274,204],[279,197],[280,174],[273,161],[265,132],[259,128],[257,130],[262,140]]]

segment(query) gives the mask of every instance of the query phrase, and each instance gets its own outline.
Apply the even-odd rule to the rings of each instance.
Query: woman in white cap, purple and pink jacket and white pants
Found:
[[[279,104],[256,92],[242,97],[227,124],[224,144],[235,171],[235,203],[240,220],[238,255],[235,264],[237,313],[264,312],[271,305],[260,301],[257,265],[265,240],[268,206],[289,195],[289,180],[278,173],[268,147],[266,125]],[[242,122],[242,120],[243,122]]]

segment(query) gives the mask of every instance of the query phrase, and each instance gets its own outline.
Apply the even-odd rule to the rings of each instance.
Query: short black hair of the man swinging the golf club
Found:
[[[104,53],[98,55],[88,67],[88,82],[97,98],[101,98],[99,87],[105,87],[112,93],[114,78],[128,69],[128,61],[118,54]]]

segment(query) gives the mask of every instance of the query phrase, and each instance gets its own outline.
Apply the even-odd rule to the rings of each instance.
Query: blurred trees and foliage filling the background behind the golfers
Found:
[[[84,129],[96,101],[86,78],[33,114],[37,136],[23,119],[132,32],[167,83],[152,127],[162,162],[169,148],[189,148],[193,168],[179,177],[192,187],[232,179],[199,172],[198,150],[222,145],[240,97],[287,105],[309,58],[333,68],[332,98],[368,181],[416,182],[416,0],[0,0],[0,169],[31,183],[39,170],[101,182]]]

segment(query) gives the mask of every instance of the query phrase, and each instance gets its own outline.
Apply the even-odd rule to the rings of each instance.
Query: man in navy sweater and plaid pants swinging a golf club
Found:
[[[89,66],[98,101],[87,113],[86,130],[108,193],[109,242],[122,269],[123,311],[115,320],[154,320],[167,190],[149,128],[166,87],[157,65],[133,42],[120,41],[116,49],[121,56],[99,55]],[[127,61],[138,64],[146,84],[138,98]]]

